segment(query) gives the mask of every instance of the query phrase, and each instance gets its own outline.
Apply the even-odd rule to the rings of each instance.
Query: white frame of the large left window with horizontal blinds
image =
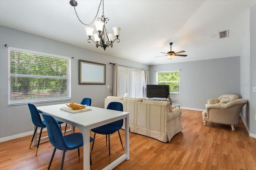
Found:
[[[22,53],[28,53],[33,55],[42,55],[46,57],[60,58],[67,60],[67,75],[66,76],[45,76],[45,75],[30,75],[30,74],[13,74],[11,73],[11,61],[10,61],[10,51],[17,51]],[[29,77],[29,78],[58,78],[66,79],[66,96],[60,96],[58,98],[36,98],[36,99],[24,99],[24,100],[11,100],[11,77],[15,75],[16,77]],[[42,53],[38,51],[31,51],[26,49],[19,49],[15,47],[8,47],[8,106],[21,105],[27,103],[44,103],[44,102],[54,102],[54,101],[65,101],[71,100],[71,58],[64,57],[60,55]]]

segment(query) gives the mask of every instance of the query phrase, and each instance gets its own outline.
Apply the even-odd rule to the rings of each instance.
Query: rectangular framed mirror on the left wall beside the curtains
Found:
[[[79,84],[106,84],[106,64],[79,60]]]

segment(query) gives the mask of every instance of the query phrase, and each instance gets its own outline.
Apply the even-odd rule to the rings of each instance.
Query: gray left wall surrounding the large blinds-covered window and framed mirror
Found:
[[[35,104],[36,106],[69,103],[71,101],[80,103],[82,98],[89,97],[92,98],[92,106],[104,107],[104,98],[112,95],[110,89],[107,88],[108,85],[110,85],[111,88],[113,85],[113,66],[109,64],[110,62],[136,68],[149,68],[149,66],[144,64],[104,55],[8,27],[0,26],[0,37],[0,138],[18,134],[26,135],[26,133],[30,135],[34,127],[26,104],[8,106],[8,48],[4,47],[5,44],[20,49],[74,57],[74,59],[71,60],[71,100],[65,102],[40,103]],[[85,41],[85,43],[87,42]],[[79,59],[106,64],[106,85],[79,85]]]

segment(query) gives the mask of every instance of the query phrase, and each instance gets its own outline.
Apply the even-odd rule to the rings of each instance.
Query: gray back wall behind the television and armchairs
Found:
[[[240,57],[150,66],[150,84],[156,84],[156,72],[172,70],[180,70],[180,94],[170,96],[182,108],[203,110],[208,99],[240,96]]]

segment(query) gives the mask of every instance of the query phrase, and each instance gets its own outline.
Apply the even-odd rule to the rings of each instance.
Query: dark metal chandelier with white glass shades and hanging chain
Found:
[[[100,5],[98,7],[98,11],[97,11],[97,14],[96,16],[94,17],[94,20],[90,23],[90,24],[86,24],[86,23],[83,23],[79,17],[78,17],[78,14],[76,12],[76,6],[77,6],[77,2],[75,0],[70,0],[70,5],[71,6],[74,6],[74,11],[76,13],[76,16],[78,18],[78,20],[88,26],[88,27],[85,27],[84,29],[86,30],[86,34],[87,36],[89,37],[88,38],[88,43],[90,43],[91,41],[93,41],[95,44],[96,44],[96,47],[98,48],[98,46],[100,47],[103,47],[104,51],[106,50],[106,47],[113,47],[113,43],[114,41],[118,42],[120,41],[120,39],[118,39],[119,35],[120,35],[120,30],[121,28],[120,27],[113,27],[113,30],[114,30],[114,34],[113,33],[108,33],[108,31],[106,30],[106,27],[105,27],[105,23],[107,23],[108,21],[108,18],[105,18],[104,16],[104,0],[100,0]],[[97,18],[98,16],[98,12],[100,10],[100,6],[101,6],[101,3],[102,3],[102,16],[101,18]],[[97,18],[97,21],[95,21]],[[94,23],[95,26],[96,26],[96,30],[98,33],[93,33],[94,31],[94,28],[93,27],[90,27],[90,25]],[[92,36],[94,37],[94,40],[91,39]]]

